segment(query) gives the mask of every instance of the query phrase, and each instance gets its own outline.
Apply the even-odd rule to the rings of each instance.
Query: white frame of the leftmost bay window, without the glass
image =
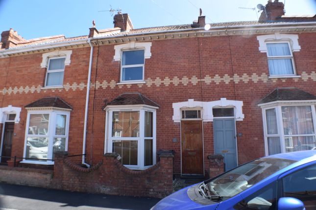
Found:
[[[47,135],[31,135],[28,134],[28,127],[29,127],[29,119],[31,114],[49,114],[49,129]],[[65,135],[55,135],[56,132],[56,115],[66,115],[66,129],[65,129]],[[65,142],[65,151],[68,151],[68,137],[69,137],[69,121],[70,121],[70,111],[62,111],[62,110],[28,110],[27,111],[27,118],[26,118],[26,127],[25,127],[25,137],[24,137],[24,152],[23,157],[26,158],[26,142],[27,137],[43,137],[49,139],[49,145],[48,145],[48,153],[47,153],[47,159],[52,159],[53,155],[53,140],[54,138],[66,138]],[[23,159],[21,163],[27,163],[27,164],[39,164],[39,165],[53,165],[54,161],[37,161],[37,160],[26,160]]]

